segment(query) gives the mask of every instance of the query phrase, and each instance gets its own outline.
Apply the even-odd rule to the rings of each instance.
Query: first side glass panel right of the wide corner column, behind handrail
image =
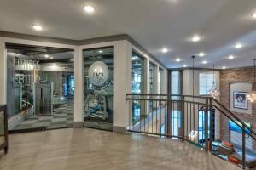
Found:
[[[144,94],[144,59],[136,53],[132,54],[132,78],[131,92],[132,94]],[[136,123],[144,118],[144,103],[143,101],[133,101],[132,103],[132,122]]]

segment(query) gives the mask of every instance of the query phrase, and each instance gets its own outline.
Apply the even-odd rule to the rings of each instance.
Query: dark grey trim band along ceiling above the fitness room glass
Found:
[[[114,42],[114,41],[126,40],[126,41],[130,42],[132,45],[139,48],[141,51],[143,51],[143,53],[147,54],[151,59],[154,59],[160,65],[164,66],[164,68],[166,68],[166,66],[163,65],[163,63],[161,63],[159,59],[156,59],[154,57],[154,55],[150,54],[145,48],[143,48],[142,45],[140,45],[138,42],[136,42],[128,34],[119,34],[119,35],[113,35],[113,36],[107,36],[107,37],[95,37],[95,38],[89,38],[89,39],[84,39],[84,40],[72,40],[72,39],[65,39],[65,38],[44,37],[44,36],[21,34],[21,33],[9,32],[9,31],[0,31],[0,37],[10,37],[10,38],[31,40],[31,41],[37,41],[37,42],[52,42],[52,43],[61,43],[61,44],[77,45],[77,46],[89,45],[89,44],[93,44],[93,43]]]

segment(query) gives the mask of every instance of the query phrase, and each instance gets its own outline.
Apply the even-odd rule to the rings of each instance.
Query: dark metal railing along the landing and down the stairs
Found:
[[[131,108],[128,131],[185,140],[243,168],[253,166],[248,163],[250,155],[246,152],[255,149],[256,153],[256,133],[218,100],[166,94],[126,94],[126,99]],[[228,126],[236,125],[236,131],[232,133],[236,136],[231,138],[230,130],[222,130],[224,127],[220,121],[224,118]],[[254,149],[246,146],[248,140],[255,142],[252,143],[255,144]],[[226,147],[225,144],[230,143],[234,145]],[[256,166],[256,157],[254,164]]]

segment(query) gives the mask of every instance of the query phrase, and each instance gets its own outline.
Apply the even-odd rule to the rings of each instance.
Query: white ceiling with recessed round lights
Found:
[[[95,14],[84,13],[85,3]],[[74,40],[129,34],[166,67],[191,66],[190,56],[203,51],[195,66],[229,68],[256,59],[253,12],[255,0],[0,0],[0,30]],[[33,31],[34,23],[44,31]],[[194,34],[202,41],[189,41]],[[234,48],[236,42],[245,47]],[[163,47],[170,51],[162,54]]]

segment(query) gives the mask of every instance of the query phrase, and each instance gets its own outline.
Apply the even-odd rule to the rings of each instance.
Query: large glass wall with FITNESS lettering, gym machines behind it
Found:
[[[6,48],[9,130],[73,127],[73,50]]]

